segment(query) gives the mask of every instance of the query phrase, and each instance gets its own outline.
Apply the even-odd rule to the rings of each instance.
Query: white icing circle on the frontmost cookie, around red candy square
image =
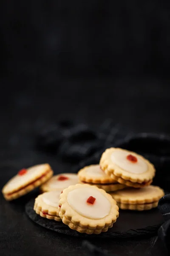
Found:
[[[90,196],[96,198],[94,204],[88,204]],[[91,187],[77,188],[68,193],[68,204],[80,215],[101,219],[107,216],[111,210],[110,201],[99,190]]]

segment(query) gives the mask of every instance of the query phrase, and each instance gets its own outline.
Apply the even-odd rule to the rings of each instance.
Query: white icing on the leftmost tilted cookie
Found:
[[[36,180],[43,174],[45,174],[46,165],[37,165],[26,169],[27,172],[24,175],[16,175],[11,180],[8,181],[6,190],[12,190],[24,186],[31,181]]]

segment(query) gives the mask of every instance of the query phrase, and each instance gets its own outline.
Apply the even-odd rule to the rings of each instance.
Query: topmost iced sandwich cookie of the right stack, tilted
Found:
[[[100,159],[100,167],[117,182],[135,188],[150,185],[156,172],[147,159],[122,148],[106,149]]]

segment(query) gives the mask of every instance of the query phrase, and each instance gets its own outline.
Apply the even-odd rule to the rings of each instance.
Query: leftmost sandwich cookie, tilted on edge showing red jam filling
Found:
[[[53,171],[48,163],[20,170],[2,189],[6,200],[19,198],[49,180]]]

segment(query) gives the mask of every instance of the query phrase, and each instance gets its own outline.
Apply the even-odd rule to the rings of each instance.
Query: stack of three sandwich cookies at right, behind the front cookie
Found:
[[[152,163],[122,148],[108,148],[99,165],[78,172],[79,182],[96,185],[116,200],[120,209],[148,210],[157,207],[164,191],[150,185],[155,176]]]

